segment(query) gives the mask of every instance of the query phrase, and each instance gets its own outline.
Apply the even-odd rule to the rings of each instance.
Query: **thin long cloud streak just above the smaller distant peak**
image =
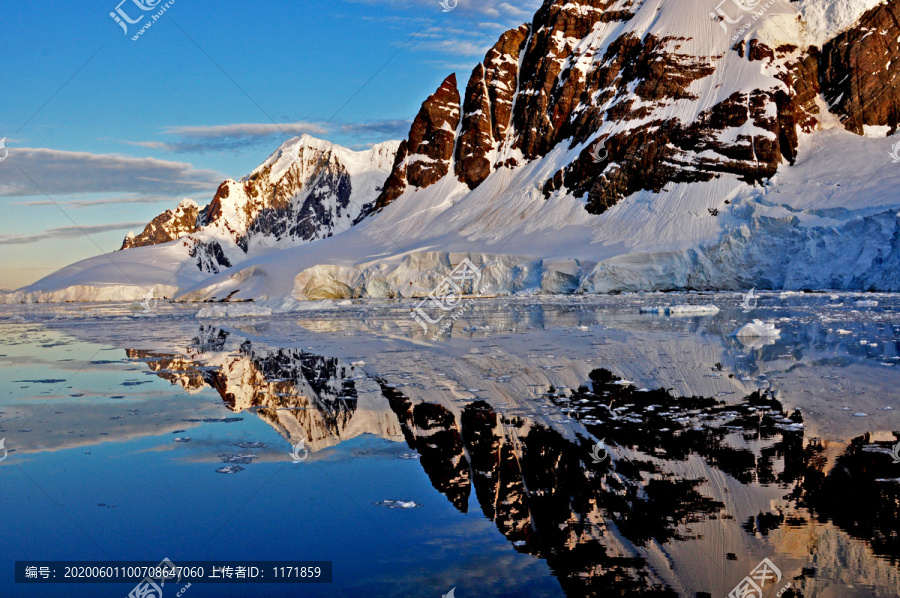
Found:
[[[379,136],[378,141],[406,137],[411,119],[378,120],[358,123],[236,123],[213,126],[166,127],[164,135],[174,141],[129,141],[131,145],[173,153],[205,153],[242,150],[249,147],[277,146],[291,136],[328,137]]]

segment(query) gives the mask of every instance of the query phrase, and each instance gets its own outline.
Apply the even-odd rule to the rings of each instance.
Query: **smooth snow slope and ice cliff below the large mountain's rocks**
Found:
[[[447,178],[340,236],[249,260],[182,298],[424,296],[464,257],[482,268],[482,293],[900,290],[891,141],[817,132],[766,187],[724,177],[670,185],[598,216],[570,195],[543,199],[546,161],[500,170],[472,191]]]

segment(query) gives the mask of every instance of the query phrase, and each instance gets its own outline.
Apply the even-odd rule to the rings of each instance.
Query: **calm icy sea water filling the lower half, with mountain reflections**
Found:
[[[5,306],[0,595],[163,558],[333,563],[191,597],[897,595],[900,297],[741,299]]]

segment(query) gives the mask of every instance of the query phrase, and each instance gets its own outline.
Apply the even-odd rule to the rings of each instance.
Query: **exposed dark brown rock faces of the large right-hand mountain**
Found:
[[[756,32],[724,52],[698,52],[698,30],[687,27],[680,35],[652,28],[638,33],[627,26],[597,35],[653,4],[548,1],[532,25],[504,33],[466,85],[453,148],[456,177],[475,188],[499,166],[541,159],[560,144],[581,146],[574,160],[547,178],[543,192],[549,197],[565,189],[585,197],[586,209],[599,214],[636,191],[660,192],[669,183],[727,174],[750,184],[771,178],[781,164],[797,159],[798,134],[817,126],[820,91],[844,115],[849,130],[862,133],[863,125],[896,130],[900,94],[892,86],[900,75],[895,59],[900,2],[869,10],[821,53]],[[764,72],[768,82],[710,103],[716,93],[711,90],[721,87],[711,76],[726,64]],[[704,79],[709,82],[698,86]],[[677,102],[698,104],[696,116],[685,119],[666,110]],[[434,96],[423,105],[425,114],[433,103]],[[426,122],[422,115],[420,129]],[[428,155],[447,155],[452,136],[443,142],[447,147],[431,145]],[[411,156],[421,151],[409,143],[403,148],[380,207],[407,185],[434,182],[433,176],[417,183],[409,179]]]

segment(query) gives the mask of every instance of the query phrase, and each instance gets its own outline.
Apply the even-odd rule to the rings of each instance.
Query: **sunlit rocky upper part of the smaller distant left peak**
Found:
[[[257,239],[271,245],[329,237],[371,211],[396,150],[394,141],[354,152],[309,136],[291,139],[248,176],[224,181],[202,210],[185,200],[122,248],[203,233],[220,245],[210,245],[213,255],[226,253],[222,244],[247,252]]]

